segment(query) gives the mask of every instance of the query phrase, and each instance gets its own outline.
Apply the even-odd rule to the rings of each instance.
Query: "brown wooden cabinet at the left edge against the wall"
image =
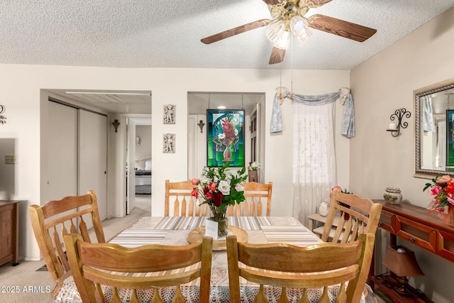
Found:
[[[19,201],[0,200],[0,265],[19,263]]]

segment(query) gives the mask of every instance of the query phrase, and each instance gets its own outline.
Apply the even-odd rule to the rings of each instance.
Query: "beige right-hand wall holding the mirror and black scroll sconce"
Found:
[[[380,34],[380,33],[377,33]],[[350,189],[383,199],[385,187],[402,189],[404,200],[426,207],[427,180],[414,176],[415,123],[413,91],[454,77],[454,9],[417,29],[352,70],[356,137],[350,144]],[[385,131],[396,109],[411,111],[409,126],[393,138]],[[384,233],[384,235],[386,235]],[[382,256],[389,238],[378,239]],[[435,302],[453,302],[454,264],[409,243],[426,274],[411,279]],[[377,255],[377,264],[381,264]],[[384,272],[384,268],[382,268]],[[380,272],[379,272],[380,273]]]

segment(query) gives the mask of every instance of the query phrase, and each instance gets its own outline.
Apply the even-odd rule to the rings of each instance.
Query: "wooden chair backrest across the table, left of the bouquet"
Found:
[[[173,208],[172,216],[206,216],[206,204],[199,206],[199,201],[191,195],[192,189],[191,181],[165,180],[164,216],[170,216],[170,208]]]

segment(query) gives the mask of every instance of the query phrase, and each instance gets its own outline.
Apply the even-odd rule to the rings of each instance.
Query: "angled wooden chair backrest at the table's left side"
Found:
[[[70,270],[63,235],[80,233],[84,241],[89,242],[88,223],[93,224],[96,240],[99,243],[106,242],[94,191],[49,201],[43,206],[31,205],[28,206],[28,213],[36,241],[53,280]],[[91,224],[86,223],[89,220]]]

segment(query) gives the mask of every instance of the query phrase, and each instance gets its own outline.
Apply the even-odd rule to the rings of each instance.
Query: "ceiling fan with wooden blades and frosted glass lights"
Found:
[[[243,26],[231,28],[215,35],[201,39],[205,44],[211,44],[233,35],[245,33],[255,28],[268,26],[267,38],[274,45],[270,56],[270,64],[282,62],[291,33],[296,36],[299,43],[309,39],[309,28],[314,28],[326,33],[340,35],[341,37],[363,42],[374,35],[377,30],[360,26],[359,24],[343,21],[341,19],[315,14],[304,17],[309,9],[320,7],[333,0],[262,0],[268,5],[272,20],[260,19]]]

